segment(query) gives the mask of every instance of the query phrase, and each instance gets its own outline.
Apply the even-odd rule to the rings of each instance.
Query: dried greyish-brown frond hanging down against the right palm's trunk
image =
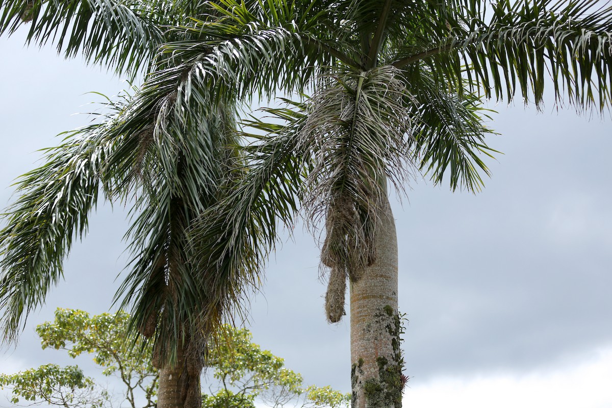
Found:
[[[416,173],[409,155],[414,98],[394,67],[324,73],[318,89],[299,130],[297,150],[313,158],[302,211],[309,228],[325,221],[323,272],[332,269],[330,280],[342,271],[357,281],[359,271],[376,262],[373,234],[387,182],[403,191]]]

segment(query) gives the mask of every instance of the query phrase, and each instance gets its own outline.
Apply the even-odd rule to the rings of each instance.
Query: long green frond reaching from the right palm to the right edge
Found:
[[[511,100],[520,92],[540,104],[545,76],[555,98],[578,109],[603,110],[612,88],[612,6],[589,0],[565,2],[477,0],[456,2],[449,20],[436,21],[437,42],[406,43],[393,64],[423,61],[439,81],[461,89],[463,73],[486,97]],[[420,62],[419,62],[420,63]],[[469,66],[465,71],[464,66]]]

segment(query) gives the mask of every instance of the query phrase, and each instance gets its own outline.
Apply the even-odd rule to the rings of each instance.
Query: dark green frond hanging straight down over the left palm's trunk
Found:
[[[209,335],[223,317],[211,316],[206,322],[201,319],[211,302],[203,295],[206,289],[190,255],[187,231],[200,213],[222,196],[232,161],[238,160],[236,132],[228,112],[197,120],[201,122],[197,137],[168,139],[169,135],[192,134],[176,123],[164,125],[163,131],[153,135],[155,142],[149,145],[152,151],[146,158],[153,164],[144,169],[153,174],[145,179],[150,182],[136,199],[133,224],[126,234],[133,253],[131,270],[116,294],[122,308],[132,309],[131,327],[146,336],[155,335],[162,358],[172,358],[176,344],[184,341],[185,333],[193,334],[193,327],[197,333]],[[174,146],[169,150],[165,145],[170,143]]]

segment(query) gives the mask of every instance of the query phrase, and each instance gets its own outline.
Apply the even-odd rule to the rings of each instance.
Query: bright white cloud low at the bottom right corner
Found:
[[[439,408],[604,408],[612,406],[612,345],[584,362],[523,374],[435,377],[423,384],[412,379],[406,407]]]

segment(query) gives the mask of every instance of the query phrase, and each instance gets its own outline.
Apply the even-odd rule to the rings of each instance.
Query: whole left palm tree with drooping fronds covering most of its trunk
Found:
[[[67,56],[130,76],[147,73],[163,26],[192,13],[190,4],[73,1],[0,4],[0,32],[30,24],[28,39],[55,42]],[[156,65],[159,67],[159,65]],[[137,92],[136,92],[137,93]],[[192,92],[192,95],[195,95]],[[201,92],[201,97],[214,97]],[[232,103],[196,117],[182,114],[171,87],[153,105],[125,96],[110,113],[68,132],[45,164],[20,177],[19,195],[0,231],[0,309],[4,339],[15,339],[29,311],[62,275],[76,236],[83,237],[99,194],[132,205],[131,271],[116,295],[132,307],[132,328],[151,338],[160,366],[158,406],[199,407],[203,342],[239,302],[250,276],[227,273],[206,295],[188,256],[187,227],[241,176]],[[193,113],[193,111],[192,111]],[[194,296],[194,292],[197,296]]]

